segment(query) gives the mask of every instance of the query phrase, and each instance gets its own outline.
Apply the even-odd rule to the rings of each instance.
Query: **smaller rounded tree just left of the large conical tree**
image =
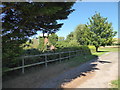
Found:
[[[75,29],[75,39],[79,42],[80,45],[90,44],[89,29],[85,24],[80,24]]]

